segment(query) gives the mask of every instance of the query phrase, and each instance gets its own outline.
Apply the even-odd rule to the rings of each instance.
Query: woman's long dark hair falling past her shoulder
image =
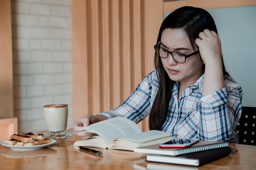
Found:
[[[216,24],[209,12],[196,7],[181,7],[170,13],[162,22],[159,29],[157,42],[161,40],[162,32],[166,28],[183,29],[188,35],[192,46],[195,45],[195,39],[204,29],[215,31],[217,34]],[[223,73],[229,75],[225,70],[222,59]],[[159,88],[153,102],[149,115],[150,130],[161,130],[169,111],[169,102],[172,95],[173,81],[168,77],[164,70],[160,57],[155,53],[155,69],[157,71]]]

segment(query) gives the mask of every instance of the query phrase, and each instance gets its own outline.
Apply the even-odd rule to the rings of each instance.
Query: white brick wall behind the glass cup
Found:
[[[11,0],[18,132],[46,130],[43,105],[68,104],[72,128],[70,0]]]

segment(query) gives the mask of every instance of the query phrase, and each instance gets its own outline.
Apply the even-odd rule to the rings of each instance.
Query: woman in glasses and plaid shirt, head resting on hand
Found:
[[[155,70],[120,106],[74,121],[80,138],[93,134],[83,126],[123,116],[138,123],[149,115],[150,130],[177,138],[238,143],[236,124],[243,92],[222,59],[215,22],[204,9],[181,7],[169,14],[155,45]]]

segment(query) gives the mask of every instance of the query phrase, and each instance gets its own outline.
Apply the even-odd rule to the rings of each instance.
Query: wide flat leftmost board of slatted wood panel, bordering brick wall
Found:
[[[86,5],[86,1],[71,1],[73,120],[91,112],[88,95]]]

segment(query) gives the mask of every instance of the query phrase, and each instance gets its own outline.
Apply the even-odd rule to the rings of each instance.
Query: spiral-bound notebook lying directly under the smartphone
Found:
[[[178,156],[193,152],[200,152],[204,150],[211,150],[216,148],[224,148],[229,146],[227,142],[216,142],[216,141],[199,141],[190,148],[159,148],[159,145],[150,145],[134,148],[134,152],[147,153],[147,154],[158,154],[158,155],[169,155]]]

